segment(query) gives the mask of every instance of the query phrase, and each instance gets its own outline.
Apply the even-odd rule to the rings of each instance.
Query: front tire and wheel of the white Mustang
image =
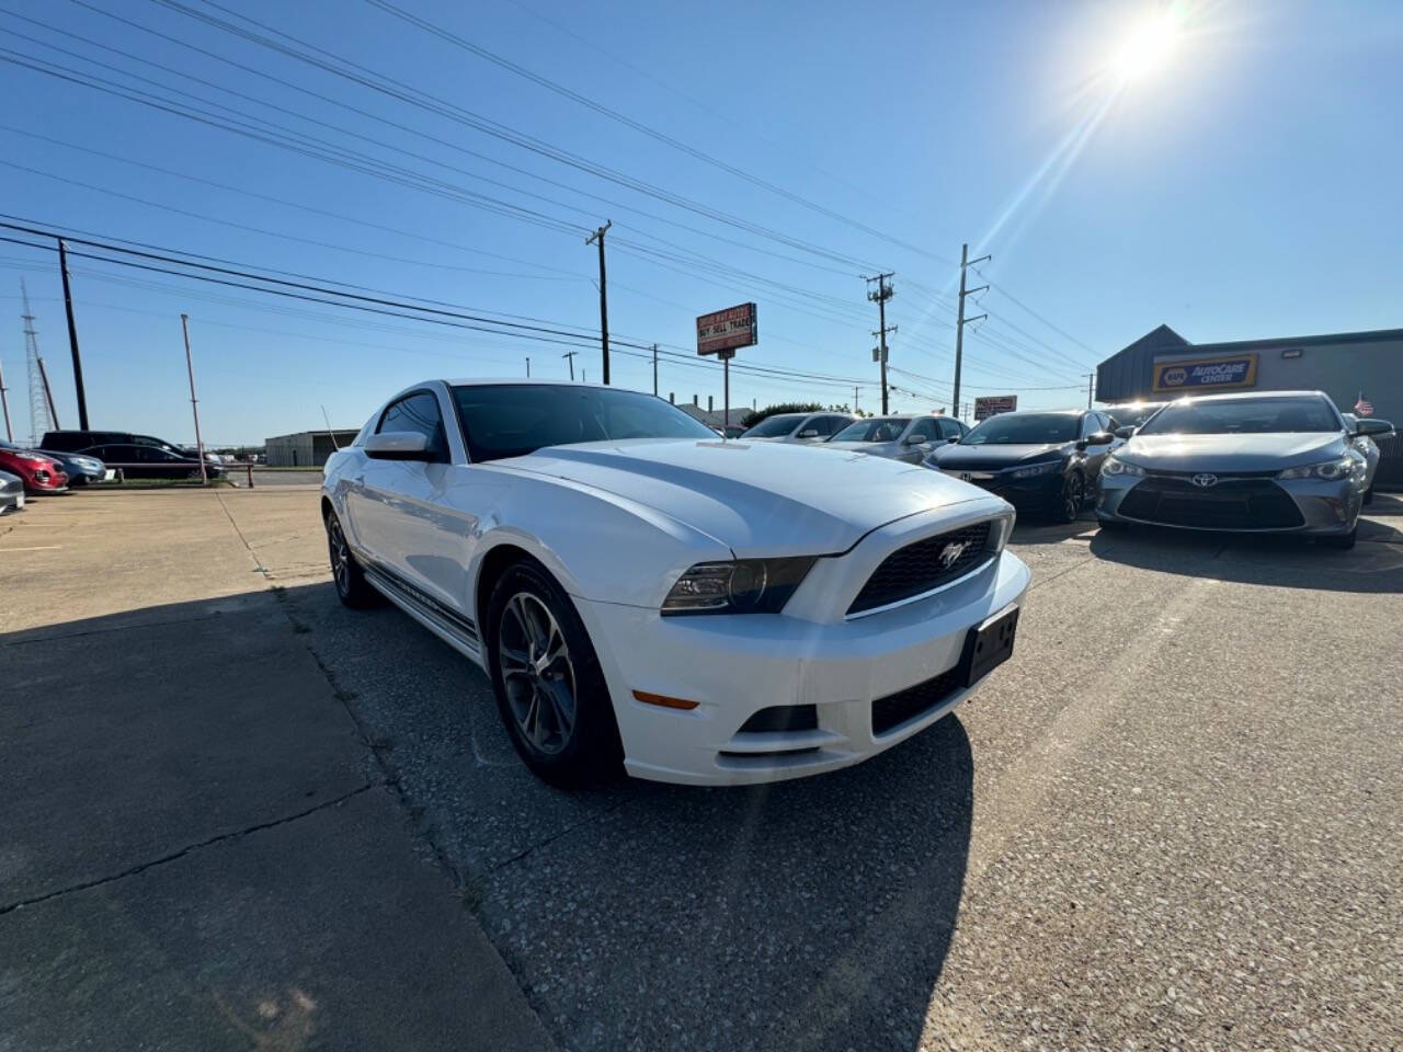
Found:
[[[492,690],[522,762],[564,788],[616,777],[623,762],[609,686],[564,589],[535,561],[511,567],[487,605]]]

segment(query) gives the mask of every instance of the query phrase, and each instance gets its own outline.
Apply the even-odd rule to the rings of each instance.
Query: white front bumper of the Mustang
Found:
[[[854,551],[868,543],[880,547],[881,539],[864,539]],[[971,693],[954,673],[971,628],[1016,607],[1030,576],[1005,551],[923,599],[825,621],[787,614],[662,617],[579,599],[577,607],[596,644],[620,641],[596,649],[629,773],[730,785],[846,767],[940,720]],[[696,707],[664,708],[634,692]],[[811,720],[790,729],[758,717],[760,724],[742,729],[760,710],[790,706],[803,707]]]

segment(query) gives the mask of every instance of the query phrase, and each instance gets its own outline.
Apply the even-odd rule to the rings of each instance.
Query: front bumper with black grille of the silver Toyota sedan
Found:
[[[1215,476],[1201,487],[1194,476],[1101,474],[1096,516],[1191,530],[1244,533],[1348,533],[1360,518],[1364,491],[1357,480]]]

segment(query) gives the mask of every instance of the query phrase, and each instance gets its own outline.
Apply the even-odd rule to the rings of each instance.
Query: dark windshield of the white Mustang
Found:
[[[651,394],[568,384],[464,384],[453,389],[476,461],[542,446],[633,438],[714,439],[716,432]]]

